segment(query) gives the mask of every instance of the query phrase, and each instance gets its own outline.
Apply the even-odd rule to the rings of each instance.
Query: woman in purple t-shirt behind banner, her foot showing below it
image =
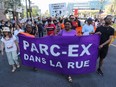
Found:
[[[58,36],[77,36],[76,30],[72,29],[71,21],[66,21],[64,25],[65,25],[65,29],[61,30],[58,33]],[[72,82],[72,77],[70,75],[68,76],[68,81]]]

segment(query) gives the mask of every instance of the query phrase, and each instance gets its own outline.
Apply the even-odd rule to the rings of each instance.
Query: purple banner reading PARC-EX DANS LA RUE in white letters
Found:
[[[43,38],[19,35],[20,57],[26,66],[57,73],[91,73],[96,69],[99,39],[99,35]]]

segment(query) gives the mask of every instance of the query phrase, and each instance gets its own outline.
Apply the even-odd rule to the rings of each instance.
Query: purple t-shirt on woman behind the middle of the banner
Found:
[[[76,36],[76,30],[66,31],[63,29],[58,33],[58,36]]]

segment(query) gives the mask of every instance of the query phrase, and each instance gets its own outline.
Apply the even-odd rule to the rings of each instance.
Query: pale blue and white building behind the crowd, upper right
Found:
[[[68,3],[67,9],[68,9],[68,15],[74,13],[74,9],[78,9],[79,11],[84,10],[98,10],[103,11],[105,9],[105,6],[109,3],[108,0],[103,0],[103,2],[100,2],[100,0],[90,0],[88,2],[77,2],[77,3]]]

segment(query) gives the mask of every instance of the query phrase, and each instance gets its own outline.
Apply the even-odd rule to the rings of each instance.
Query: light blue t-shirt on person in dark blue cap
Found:
[[[83,35],[89,35],[89,33],[94,32],[94,26],[85,24],[82,28]]]

